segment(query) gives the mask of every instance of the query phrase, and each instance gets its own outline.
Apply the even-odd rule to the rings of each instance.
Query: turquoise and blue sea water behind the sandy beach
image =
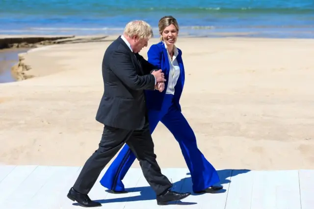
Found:
[[[314,0],[0,0],[0,34],[119,34],[174,16],[182,35],[314,38]]]

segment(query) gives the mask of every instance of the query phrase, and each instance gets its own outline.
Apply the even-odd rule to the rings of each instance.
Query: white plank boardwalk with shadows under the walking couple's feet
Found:
[[[66,195],[81,167],[0,166],[1,209],[79,209]],[[104,174],[102,172],[100,178]],[[191,191],[185,168],[162,169],[176,191]],[[99,183],[89,193],[105,209],[314,209],[314,170],[218,170],[224,191],[193,194],[168,206],[157,206],[155,194],[139,168],[131,168],[124,184],[130,191],[111,194]]]

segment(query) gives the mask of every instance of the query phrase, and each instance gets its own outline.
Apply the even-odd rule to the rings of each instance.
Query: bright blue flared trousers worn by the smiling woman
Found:
[[[161,121],[178,141],[186,165],[191,173],[194,192],[209,188],[220,181],[215,168],[198,149],[195,134],[183,114],[174,105],[173,95],[165,95],[160,111],[149,110],[148,120],[151,133],[158,122]],[[100,183],[108,189],[123,191],[125,188],[122,180],[135,159],[131,149],[125,144],[105,172]]]

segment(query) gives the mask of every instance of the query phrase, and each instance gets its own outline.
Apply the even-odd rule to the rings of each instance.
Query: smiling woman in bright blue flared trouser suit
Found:
[[[161,42],[151,46],[148,61],[157,69],[162,69],[166,81],[162,92],[145,91],[151,133],[161,121],[180,145],[191,173],[193,191],[214,193],[222,189],[222,186],[213,186],[219,182],[218,174],[197,148],[195,134],[181,113],[179,104],[184,84],[184,67],[182,52],[175,46],[179,32],[177,20],[165,16],[159,20],[158,27]],[[134,160],[134,154],[125,145],[100,183],[113,193],[126,192],[122,180]]]

